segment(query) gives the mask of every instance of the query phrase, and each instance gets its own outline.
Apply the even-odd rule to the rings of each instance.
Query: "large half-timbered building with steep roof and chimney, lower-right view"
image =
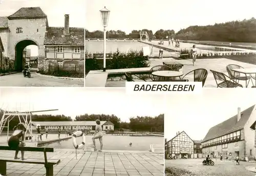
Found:
[[[203,155],[220,157],[233,160],[236,156],[240,159],[254,160],[254,127],[256,121],[255,105],[241,112],[238,108],[237,115],[211,127],[202,141]],[[251,128],[252,129],[251,129]]]

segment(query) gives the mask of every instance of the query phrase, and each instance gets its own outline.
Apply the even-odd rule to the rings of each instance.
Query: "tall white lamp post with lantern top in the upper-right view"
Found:
[[[104,7],[100,10],[101,22],[104,27],[104,45],[103,45],[103,72],[106,71],[106,27],[109,23],[110,11]]]

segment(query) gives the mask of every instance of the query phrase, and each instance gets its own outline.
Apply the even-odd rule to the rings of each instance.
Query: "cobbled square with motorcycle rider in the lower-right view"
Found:
[[[213,159],[214,166],[202,165],[204,159],[186,159],[186,160],[165,160],[165,168],[171,167],[168,170],[173,171],[175,174],[182,176],[254,176],[256,173],[250,172],[245,167],[255,165],[256,162],[240,162],[240,165],[236,165],[234,161],[220,161],[220,159]]]

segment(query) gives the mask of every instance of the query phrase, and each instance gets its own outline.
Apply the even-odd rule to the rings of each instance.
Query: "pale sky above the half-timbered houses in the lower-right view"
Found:
[[[198,95],[172,95],[166,103],[164,135],[167,140],[178,131],[192,140],[203,140],[208,130],[238,112],[256,104],[256,91],[253,89],[204,89]]]

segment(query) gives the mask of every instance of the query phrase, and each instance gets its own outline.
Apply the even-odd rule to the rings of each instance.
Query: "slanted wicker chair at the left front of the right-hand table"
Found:
[[[213,70],[210,70],[210,71],[212,72],[212,74],[214,74],[217,87],[221,87],[221,88],[243,87],[241,84],[237,83],[236,81],[230,81],[232,79],[227,75],[225,75],[224,73],[213,71]],[[219,80],[219,82],[217,80]]]

